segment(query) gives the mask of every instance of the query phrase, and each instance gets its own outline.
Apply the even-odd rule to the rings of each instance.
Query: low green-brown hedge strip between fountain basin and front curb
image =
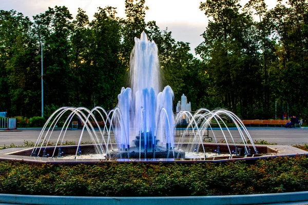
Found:
[[[228,163],[37,165],[0,162],[0,193],[67,196],[198,196],[308,190],[308,159]]]

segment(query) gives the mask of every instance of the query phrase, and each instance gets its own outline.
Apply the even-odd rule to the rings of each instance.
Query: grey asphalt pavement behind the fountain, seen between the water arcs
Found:
[[[296,145],[302,143],[308,143],[308,129],[300,128],[247,128],[249,134],[253,140],[266,140],[269,143],[277,143],[278,145]],[[24,140],[33,141],[37,140],[41,130],[17,130],[17,131],[4,131],[0,130],[0,146],[4,145],[23,145]],[[227,141],[232,141],[227,131],[224,131]],[[241,138],[239,132],[236,130],[230,130],[230,133],[234,137],[235,142],[240,142]],[[52,133],[51,140],[56,142],[60,135],[60,130],[55,130]],[[223,139],[223,134],[219,130],[215,130],[214,134],[209,133],[209,136],[216,136],[217,141]],[[65,140],[78,142],[81,136],[81,130],[68,130],[65,134]],[[49,135],[47,135],[47,138]],[[62,136],[61,136],[62,137]],[[61,138],[62,139],[62,138]],[[214,140],[214,139],[213,139]],[[91,141],[91,138],[87,132],[83,134],[82,141]]]

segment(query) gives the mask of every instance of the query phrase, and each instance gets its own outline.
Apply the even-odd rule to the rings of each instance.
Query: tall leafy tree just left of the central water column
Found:
[[[91,89],[91,100],[111,109],[117,104],[117,95],[124,86],[125,64],[121,53],[121,25],[115,17],[115,8],[99,8],[90,23],[93,32],[93,43],[90,50],[91,69],[88,72],[88,89]],[[89,92],[88,92],[89,93]]]

